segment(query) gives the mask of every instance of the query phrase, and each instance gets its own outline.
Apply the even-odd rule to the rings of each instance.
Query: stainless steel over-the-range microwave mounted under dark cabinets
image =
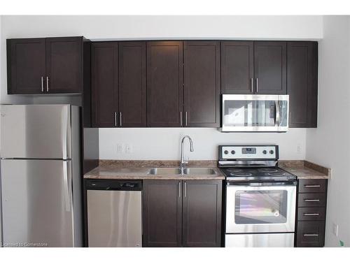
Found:
[[[223,132],[288,131],[289,96],[223,94]]]

